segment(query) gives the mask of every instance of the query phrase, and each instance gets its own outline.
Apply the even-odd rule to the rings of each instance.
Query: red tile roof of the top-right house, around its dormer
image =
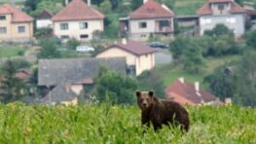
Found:
[[[207,16],[212,15],[212,11],[210,8],[211,3],[231,3],[231,10],[229,13],[231,14],[238,14],[238,13],[246,13],[245,9],[238,5],[238,3],[234,2],[233,0],[208,0],[201,8],[198,10],[197,14],[199,16]]]

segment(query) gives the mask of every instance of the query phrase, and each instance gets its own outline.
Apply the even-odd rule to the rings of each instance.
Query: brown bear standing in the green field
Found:
[[[142,126],[150,126],[155,130],[162,128],[162,125],[178,126],[182,130],[189,130],[189,114],[179,103],[158,99],[154,91],[136,91],[137,103],[141,109]]]

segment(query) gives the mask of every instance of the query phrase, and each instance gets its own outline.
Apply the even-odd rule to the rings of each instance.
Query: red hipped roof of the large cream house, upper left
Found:
[[[88,6],[83,0],[72,0],[62,11],[52,19],[54,21],[63,20],[88,20],[103,19],[104,15]]]

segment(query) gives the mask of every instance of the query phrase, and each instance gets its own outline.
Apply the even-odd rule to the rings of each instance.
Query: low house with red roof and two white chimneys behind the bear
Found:
[[[219,105],[222,102],[213,94],[202,90],[200,83],[195,85],[188,83],[184,78],[179,78],[177,81],[168,86],[165,90],[167,99],[174,100],[182,105]]]

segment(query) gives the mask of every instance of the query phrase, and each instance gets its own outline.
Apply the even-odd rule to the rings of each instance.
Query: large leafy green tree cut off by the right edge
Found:
[[[255,52],[244,54],[235,70],[237,86],[235,102],[246,106],[256,106],[256,63]]]

